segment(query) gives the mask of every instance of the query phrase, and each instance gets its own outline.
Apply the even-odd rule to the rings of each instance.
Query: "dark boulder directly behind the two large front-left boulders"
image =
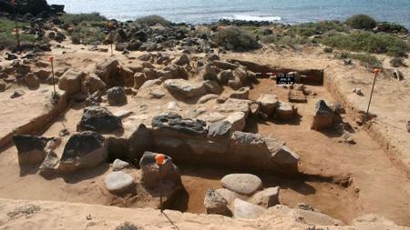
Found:
[[[91,130],[101,133],[111,133],[121,130],[122,122],[118,116],[113,115],[105,107],[88,106],[84,108],[78,129],[81,131]]]

